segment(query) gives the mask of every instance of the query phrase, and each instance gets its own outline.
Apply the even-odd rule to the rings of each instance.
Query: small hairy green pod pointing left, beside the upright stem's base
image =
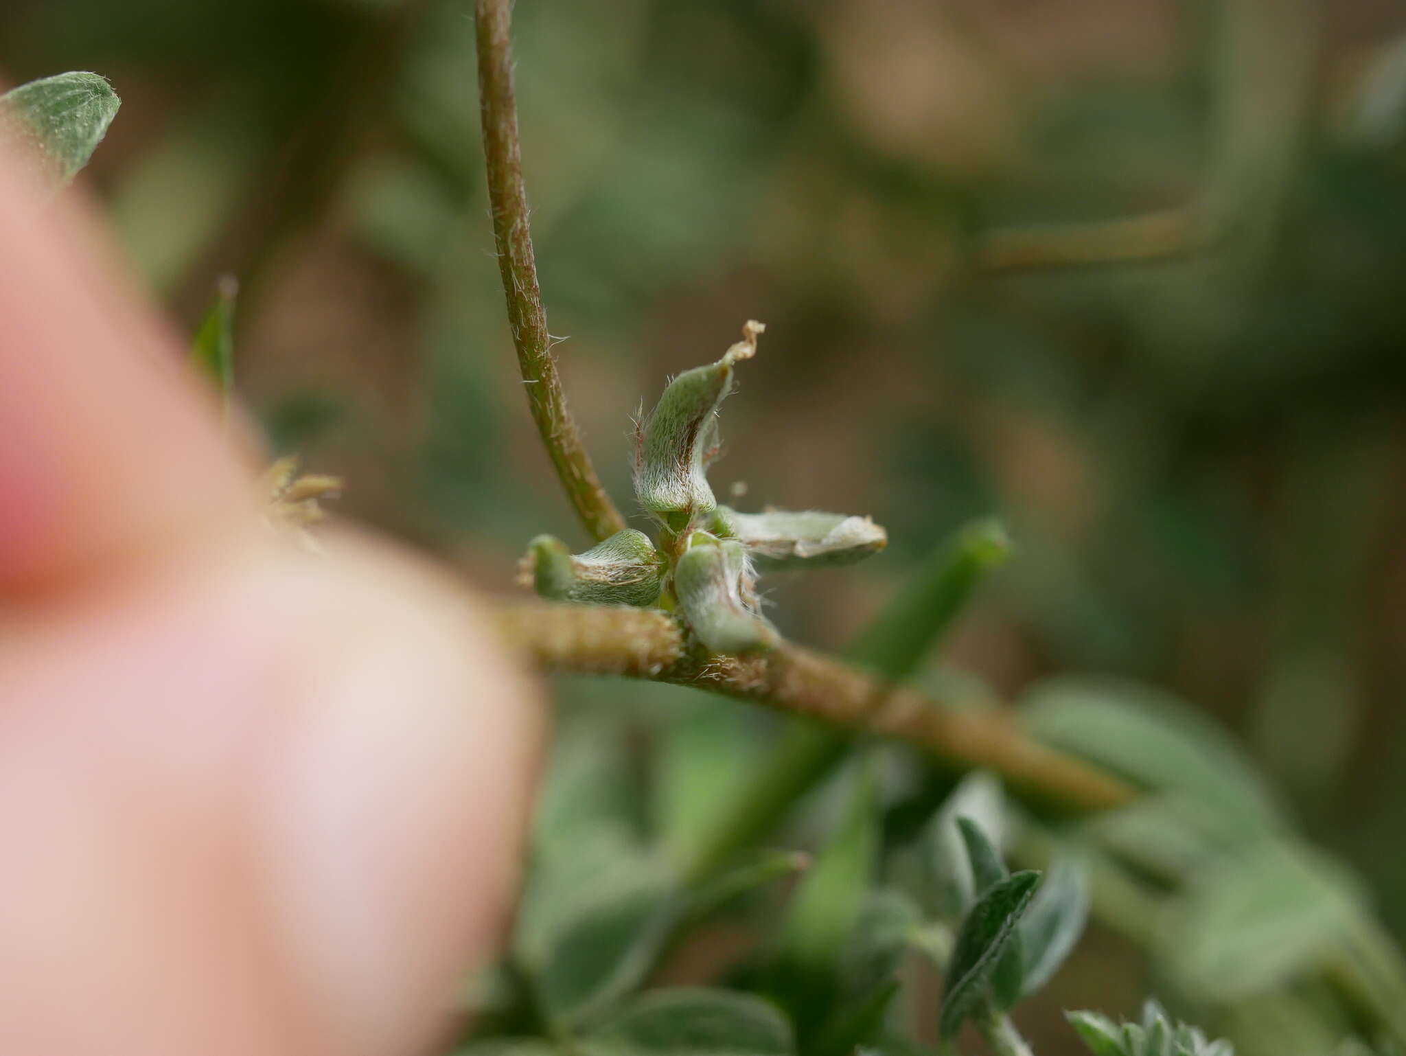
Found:
[[[537,536],[523,564],[543,598],[582,605],[654,605],[664,575],[664,560],[650,537],[634,529],[575,555],[560,539]]]

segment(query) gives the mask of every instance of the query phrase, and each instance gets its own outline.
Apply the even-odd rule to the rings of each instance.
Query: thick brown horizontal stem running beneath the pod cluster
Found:
[[[797,645],[700,658],[672,616],[650,609],[523,602],[499,607],[498,619],[519,648],[557,671],[696,686],[891,737],[957,769],[991,769],[1012,790],[1073,811],[1118,807],[1136,794],[1119,778],[1031,740],[1005,713],[943,706]]]

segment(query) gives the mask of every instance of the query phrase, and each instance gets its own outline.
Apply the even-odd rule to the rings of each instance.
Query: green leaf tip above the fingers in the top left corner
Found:
[[[59,188],[89,163],[121,104],[96,73],[60,73],[0,96],[0,134],[27,142],[46,181]]]

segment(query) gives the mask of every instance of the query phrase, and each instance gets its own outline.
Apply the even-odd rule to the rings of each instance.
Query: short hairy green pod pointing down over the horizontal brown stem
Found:
[[[673,593],[689,627],[713,652],[768,650],[780,636],[756,613],[747,547],[696,532],[673,567]]]

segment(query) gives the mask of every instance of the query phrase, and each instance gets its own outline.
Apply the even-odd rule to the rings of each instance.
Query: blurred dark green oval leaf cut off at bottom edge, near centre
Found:
[[[790,1024],[775,1005],[733,990],[643,994],[583,1043],[588,1056],[790,1056]]]

